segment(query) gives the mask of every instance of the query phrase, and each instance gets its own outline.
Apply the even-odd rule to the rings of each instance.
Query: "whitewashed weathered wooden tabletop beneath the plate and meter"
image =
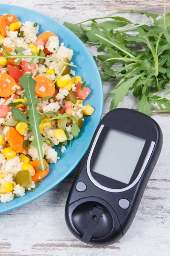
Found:
[[[42,12],[60,23],[102,17],[114,10],[139,9],[163,13],[163,0],[0,0]],[[170,1],[167,11],[170,12]],[[139,22],[139,15],[123,14]],[[132,16],[132,17],[130,17]],[[145,22],[146,17],[140,17]],[[50,28],[49,28],[50,30]],[[95,47],[89,47],[94,54]],[[104,85],[107,94],[116,81]],[[135,108],[128,95],[122,107]],[[103,113],[109,110],[110,102]],[[65,224],[64,209],[74,171],[56,188],[19,209],[0,215],[0,256],[170,256],[170,115],[153,115],[164,134],[160,158],[147,184],[139,210],[127,234],[108,247],[93,247],[75,239]]]

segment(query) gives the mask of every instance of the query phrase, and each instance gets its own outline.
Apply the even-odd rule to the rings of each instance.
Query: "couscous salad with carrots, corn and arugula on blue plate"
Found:
[[[83,104],[91,90],[75,74],[73,50],[53,32],[38,31],[37,23],[0,17],[2,203],[36,189],[94,112]]]

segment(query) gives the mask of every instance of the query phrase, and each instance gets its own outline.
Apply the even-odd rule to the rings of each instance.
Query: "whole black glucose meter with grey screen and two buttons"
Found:
[[[103,117],[65,206],[74,236],[88,244],[109,245],[125,235],[162,142],[161,128],[143,113],[118,108]]]

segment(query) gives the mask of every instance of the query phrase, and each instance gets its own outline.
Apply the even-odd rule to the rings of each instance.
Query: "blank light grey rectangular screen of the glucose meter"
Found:
[[[146,140],[110,129],[99,151],[93,171],[125,184],[135,170]]]

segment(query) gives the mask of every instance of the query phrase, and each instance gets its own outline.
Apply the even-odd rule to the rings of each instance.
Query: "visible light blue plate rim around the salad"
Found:
[[[50,164],[49,174],[40,182],[40,186],[34,192],[26,192],[23,197],[15,198],[6,204],[0,203],[0,213],[21,207],[40,197],[74,170],[88,149],[103,109],[103,89],[98,68],[91,53],[74,33],[50,17],[19,6],[0,4],[0,15],[3,13],[14,14],[22,22],[27,20],[37,22],[40,25],[39,33],[50,30],[59,36],[60,43],[64,42],[65,47],[74,50],[72,61],[78,66],[78,68],[74,68],[76,75],[82,76],[82,79],[91,88],[91,93],[85,104],[93,106],[95,112],[92,116],[85,117],[84,127],[79,138],[73,140],[72,147],[67,147],[56,164]],[[58,148],[56,150],[59,151]]]

